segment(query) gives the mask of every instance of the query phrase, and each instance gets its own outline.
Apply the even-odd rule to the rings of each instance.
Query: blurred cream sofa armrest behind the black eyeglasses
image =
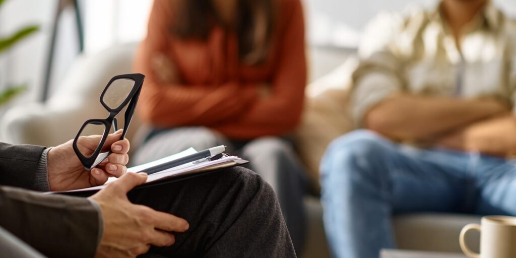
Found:
[[[112,76],[131,73],[135,47],[131,43],[79,56],[46,103],[15,106],[6,112],[0,121],[0,137],[15,144],[56,146],[74,138],[86,120],[106,118],[100,94]],[[134,116],[128,139],[140,124]]]

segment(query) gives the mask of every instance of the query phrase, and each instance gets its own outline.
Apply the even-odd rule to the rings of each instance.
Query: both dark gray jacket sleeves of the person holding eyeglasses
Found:
[[[44,147],[0,143],[0,227],[50,257],[93,257],[102,226],[86,198],[45,195],[35,189]]]

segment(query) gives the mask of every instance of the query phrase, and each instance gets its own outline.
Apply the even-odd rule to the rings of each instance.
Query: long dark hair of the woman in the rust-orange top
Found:
[[[276,25],[274,0],[236,0],[234,30],[240,61],[254,65],[265,61]],[[215,24],[221,24],[211,0],[179,0],[172,33],[180,38],[206,40]]]

